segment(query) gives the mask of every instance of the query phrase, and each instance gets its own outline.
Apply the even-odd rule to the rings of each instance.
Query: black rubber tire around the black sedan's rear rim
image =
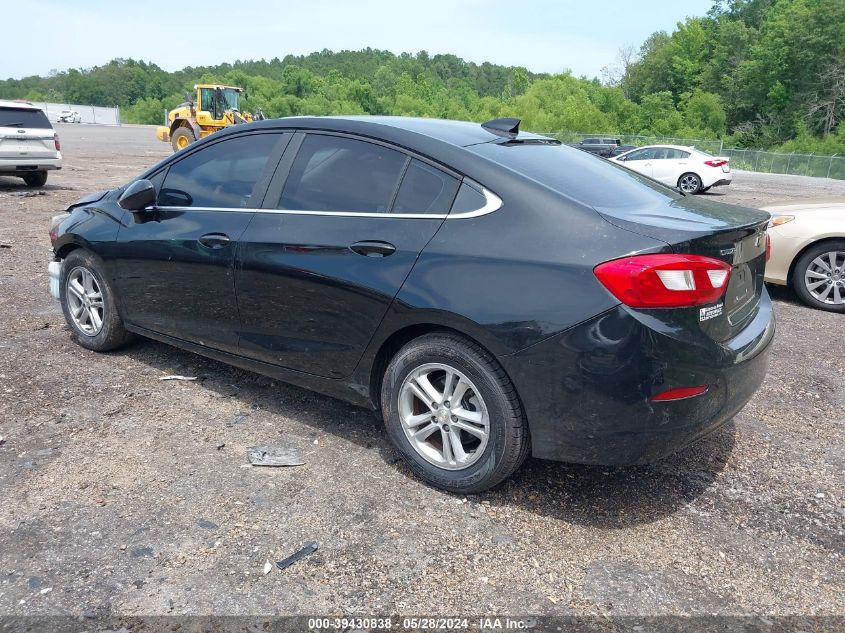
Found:
[[[432,363],[463,373],[476,387],[488,412],[486,446],[473,463],[460,470],[438,467],[426,460],[412,446],[400,418],[405,379]],[[522,465],[531,446],[522,405],[501,365],[482,347],[456,334],[426,334],[402,347],[385,371],[381,408],[387,433],[405,463],[423,481],[449,492],[474,494],[492,488]],[[464,437],[472,440],[469,435]]]

